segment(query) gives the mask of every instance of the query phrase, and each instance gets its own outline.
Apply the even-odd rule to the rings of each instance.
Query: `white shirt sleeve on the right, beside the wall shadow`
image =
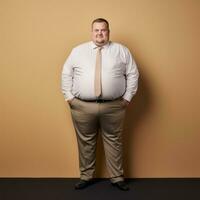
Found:
[[[139,72],[135,60],[133,59],[130,51],[126,48],[126,91],[123,98],[131,101],[138,89]]]

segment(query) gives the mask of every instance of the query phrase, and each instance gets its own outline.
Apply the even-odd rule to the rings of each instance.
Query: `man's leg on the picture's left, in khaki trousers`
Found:
[[[75,99],[71,104],[71,114],[79,149],[80,178],[90,180],[95,173],[98,134],[97,107],[93,103]]]

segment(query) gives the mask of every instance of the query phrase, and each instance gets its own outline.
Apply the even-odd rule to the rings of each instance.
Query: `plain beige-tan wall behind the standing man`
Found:
[[[60,75],[97,17],[141,74],[126,116],[126,176],[200,176],[198,0],[0,0],[0,176],[79,176]],[[97,176],[107,176],[101,143],[97,154]]]

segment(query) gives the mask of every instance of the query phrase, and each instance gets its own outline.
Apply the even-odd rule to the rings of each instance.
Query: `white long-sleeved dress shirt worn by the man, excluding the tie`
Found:
[[[62,92],[65,100],[77,97],[95,100],[94,78],[97,46],[93,41],[72,49],[62,71]],[[131,101],[138,87],[138,69],[127,47],[115,42],[103,46],[101,99],[123,97]]]

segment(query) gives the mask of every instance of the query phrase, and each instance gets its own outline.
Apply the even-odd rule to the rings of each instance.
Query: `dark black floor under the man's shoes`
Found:
[[[76,178],[0,178],[0,200],[200,200],[200,178],[126,179],[129,191],[120,191],[109,179],[96,179],[75,190]]]

